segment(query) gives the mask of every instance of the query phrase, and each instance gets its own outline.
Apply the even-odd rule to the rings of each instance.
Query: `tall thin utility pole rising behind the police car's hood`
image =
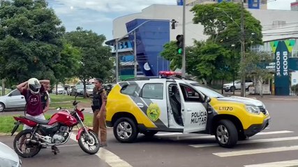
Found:
[[[245,86],[245,32],[244,32],[244,2],[241,0],[241,97],[246,96],[246,86]]]

